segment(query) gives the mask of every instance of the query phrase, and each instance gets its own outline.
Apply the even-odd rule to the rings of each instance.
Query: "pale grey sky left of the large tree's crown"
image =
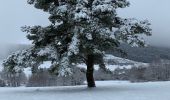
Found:
[[[27,0],[0,0],[0,44],[25,43],[24,25],[47,25],[47,14],[27,4]]]

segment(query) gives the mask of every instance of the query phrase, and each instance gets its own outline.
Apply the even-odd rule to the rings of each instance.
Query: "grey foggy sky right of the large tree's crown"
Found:
[[[119,11],[123,17],[149,20],[152,36],[145,39],[151,45],[170,47],[170,0],[129,0],[131,5]]]

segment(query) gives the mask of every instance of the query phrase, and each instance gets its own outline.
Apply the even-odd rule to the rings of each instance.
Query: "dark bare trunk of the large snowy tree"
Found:
[[[87,56],[87,72],[86,72],[86,78],[87,78],[87,84],[89,88],[96,87],[93,72],[94,72],[94,56],[88,55]]]

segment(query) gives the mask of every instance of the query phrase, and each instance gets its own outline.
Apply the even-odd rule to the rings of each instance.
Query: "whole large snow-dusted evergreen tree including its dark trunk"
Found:
[[[129,6],[126,0],[28,0],[50,14],[51,24],[25,26],[30,49],[14,53],[4,62],[9,70],[32,67],[36,72],[43,61],[52,61],[50,71],[72,74],[71,64],[85,63],[88,87],[95,87],[94,64],[104,64],[106,50],[119,50],[121,43],[145,46],[140,35],[151,35],[150,23],[121,18],[117,9]],[[120,50],[119,50],[120,51]]]

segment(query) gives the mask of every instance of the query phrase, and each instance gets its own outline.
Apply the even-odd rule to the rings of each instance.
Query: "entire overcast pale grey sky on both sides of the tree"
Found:
[[[24,25],[48,25],[48,15],[26,3],[27,0],[0,0],[0,44],[26,43]],[[123,17],[148,19],[153,36],[146,38],[152,45],[170,47],[170,0],[129,0],[131,6],[119,11]]]

